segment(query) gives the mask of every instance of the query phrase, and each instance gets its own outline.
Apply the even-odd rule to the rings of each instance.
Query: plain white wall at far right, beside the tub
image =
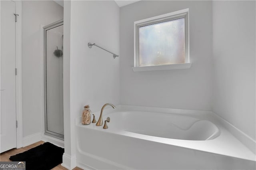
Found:
[[[255,1],[213,1],[213,111],[255,142]]]

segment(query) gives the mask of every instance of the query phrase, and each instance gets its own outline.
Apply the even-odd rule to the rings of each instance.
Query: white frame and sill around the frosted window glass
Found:
[[[188,69],[191,67],[189,59],[189,16],[188,8],[184,10],[179,10],[176,12],[170,12],[168,14],[163,14],[160,16],[154,16],[144,20],[139,20],[134,22],[134,67],[133,71],[154,71],[154,70],[169,70],[169,69]],[[140,47],[139,47],[139,28],[142,26],[148,26],[152,24],[157,24],[160,22],[166,22],[171,20],[176,20],[179,18],[184,18],[185,22],[185,63],[170,64],[170,65],[154,65],[154,66],[140,66]]]

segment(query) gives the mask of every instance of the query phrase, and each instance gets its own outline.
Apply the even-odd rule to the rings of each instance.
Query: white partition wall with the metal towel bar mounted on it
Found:
[[[114,1],[64,2],[64,16],[69,12],[66,5],[70,6],[70,23],[64,18],[64,53],[68,41],[65,34],[69,29],[66,24],[70,24],[70,113],[64,111],[64,156],[67,156],[63,160],[65,166],[72,168],[76,150],[75,118],[82,114],[84,105],[90,105],[95,112],[105,103],[120,104],[120,58],[114,59],[112,54],[96,46],[91,49],[87,46],[88,42],[97,43],[119,54],[119,8]],[[64,74],[68,74],[67,65],[64,55]],[[65,85],[67,74],[64,75],[67,76],[64,77],[64,91],[68,88]],[[68,94],[64,94],[64,106],[68,98]],[[70,130],[66,131],[68,119]],[[71,163],[66,159],[69,156]]]

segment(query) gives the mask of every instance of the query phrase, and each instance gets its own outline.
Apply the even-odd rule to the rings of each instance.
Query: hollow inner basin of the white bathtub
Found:
[[[121,111],[108,114],[109,131],[123,130],[161,138],[211,140],[220,130],[210,121],[168,113]]]

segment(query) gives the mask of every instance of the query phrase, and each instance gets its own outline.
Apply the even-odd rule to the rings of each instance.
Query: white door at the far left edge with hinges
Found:
[[[1,3],[0,152],[16,148],[15,2]]]

